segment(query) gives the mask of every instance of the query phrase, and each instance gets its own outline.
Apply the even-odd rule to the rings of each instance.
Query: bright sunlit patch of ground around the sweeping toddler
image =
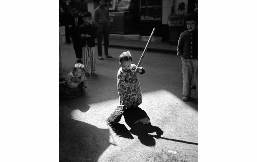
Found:
[[[187,104],[167,90],[156,90],[142,95],[143,103],[139,107],[150,117],[152,125],[159,127],[164,132],[162,137],[197,143],[197,104]],[[86,112],[75,109],[71,111],[70,115],[73,120],[85,122],[100,129],[110,129],[106,119],[116,109],[118,104],[118,98],[97,102],[90,104],[90,109]],[[130,130],[130,127],[125,123],[124,117],[121,118],[119,123],[124,124],[128,131]],[[150,135],[154,136],[155,133],[150,133]],[[156,154],[156,150],[140,143],[136,135],[132,134],[132,136],[134,139],[117,137],[112,129],[110,129],[109,142],[111,145],[102,153],[99,157],[99,161],[106,161],[106,159],[119,161],[125,155],[118,155],[125,152],[132,158],[135,150],[137,150],[138,155],[149,156],[154,153]],[[197,161],[197,145],[174,142],[161,138],[154,138],[154,140],[156,141],[155,148],[159,153],[163,153],[161,151],[163,149],[172,148],[181,153],[181,157],[183,156],[182,159],[184,161],[186,161],[184,158],[185,155],[187,155],[188,158],[190,157],[191,160],[195,159],[192,161]],[[157,154],[156,156],[159,156]],[[169,156],[169,154],[165,153],[165,158]],[[153,159],[150,156],[148,158],[149,161]]]

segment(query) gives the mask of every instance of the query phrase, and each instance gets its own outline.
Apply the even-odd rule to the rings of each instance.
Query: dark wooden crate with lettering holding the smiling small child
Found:
[[[62,83],[64,80],[65,78],[59,79],[59,98],[76,98],[82,96],[83,89],[81,84],[76,88],[69,88]]]

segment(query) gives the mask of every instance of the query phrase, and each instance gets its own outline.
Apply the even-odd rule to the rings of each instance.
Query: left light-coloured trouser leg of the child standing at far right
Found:
[[[191,96],[191,82],[193,76],[192,60],[184,59],[182,61],[182,74],[183,74],[183,92],[185,97]]]

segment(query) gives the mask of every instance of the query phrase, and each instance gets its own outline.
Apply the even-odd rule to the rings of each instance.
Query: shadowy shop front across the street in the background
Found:
[[[79,1],[79,0],[77,0]],[[94,13],[99,0],[86,2],[87,10]],[[138,34],[161,37],[162,42],[176,43],[186,30],[185,17],[194,9],[195,0],[106,0],[109,8],[111,34]],[[86,6],[84,5],[84,6]]]

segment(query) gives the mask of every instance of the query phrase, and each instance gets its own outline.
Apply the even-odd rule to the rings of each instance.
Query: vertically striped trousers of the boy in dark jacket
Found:
[[[88,57],[91,63],[91,72],[95,72],[95,47],[89,47],[88,43],[82,47],[82,64],[85,66],[85,73],[88,73]]]

